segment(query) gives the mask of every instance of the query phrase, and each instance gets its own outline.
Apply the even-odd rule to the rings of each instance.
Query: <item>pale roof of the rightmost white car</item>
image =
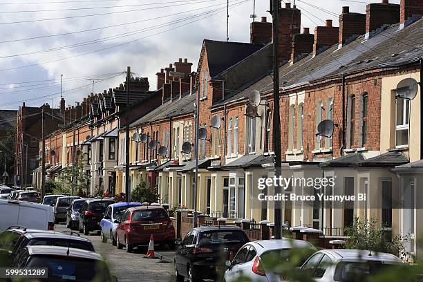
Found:
[[[326,254],[332,255],[335,259],[339,260],[357,260],[360,261],[391,261],[401,263],[401,259],[393,254],[387,254],[384,252],[370,252],[369,250],[352,250],[352,249],[332,249],[332,250],[321,250]]]

